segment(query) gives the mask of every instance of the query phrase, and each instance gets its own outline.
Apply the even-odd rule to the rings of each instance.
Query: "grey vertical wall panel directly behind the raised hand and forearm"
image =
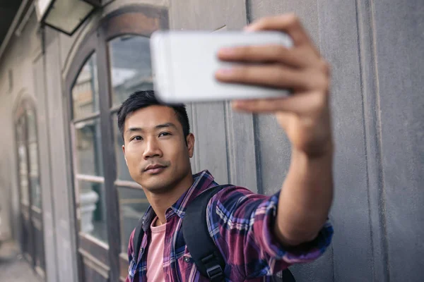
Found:
[[[314,42],[319,44],[319,18],[317,2],[312,0],[276,1],[250,0],[250,20],[264,16],[295,12],[302,19]],[[255,134],[259,159],[259,183],[262,191],[270,195],[281,189],[290,164],[290,142],[273,115],[255,116]],[[310,264],[293,266],[297,281],[334,281],[332,246]]]

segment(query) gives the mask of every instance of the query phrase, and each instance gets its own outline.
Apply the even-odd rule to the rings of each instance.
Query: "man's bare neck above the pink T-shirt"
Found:
[[[148,202],[151,204],[152,209],[155,211],[158,220],[155,222],[155,226],[160,226],[166,223],[165,214],[167,209],[172,207],[172,204],[175,204],[177,200],[192,187],[194,182],[192,173],[184,177],[177,185],[174,185],[172,188],[166,192],[155,193],[143,189],[146,193]]]

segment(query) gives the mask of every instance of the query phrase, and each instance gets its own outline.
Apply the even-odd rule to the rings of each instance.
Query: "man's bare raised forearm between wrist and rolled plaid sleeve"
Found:
[[[332,146],[313,158],[293,150],[275,225],[284,245],[313,240],[324,225],[333,200],[332,159]]]

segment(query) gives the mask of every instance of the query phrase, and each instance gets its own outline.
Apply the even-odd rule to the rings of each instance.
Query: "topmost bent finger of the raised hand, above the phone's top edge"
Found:
[[[302,26],[302,23],[300,23],[298,16],[295,16],[293,13],[261,18],[257,20],[257,22],[247,26],[246,30],[281,30],[286,32],[293,39],[295,46],[312,43],[305,28]]]

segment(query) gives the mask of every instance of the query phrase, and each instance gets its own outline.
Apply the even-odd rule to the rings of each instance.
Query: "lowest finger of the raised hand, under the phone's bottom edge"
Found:
[[[288,111],[295,114],[313,114],[322,109],[327,97],[320,93],[302,93],[290,97],[273,99],[235,100],[233,109],[256,114],[269,114],[276,111]]]

